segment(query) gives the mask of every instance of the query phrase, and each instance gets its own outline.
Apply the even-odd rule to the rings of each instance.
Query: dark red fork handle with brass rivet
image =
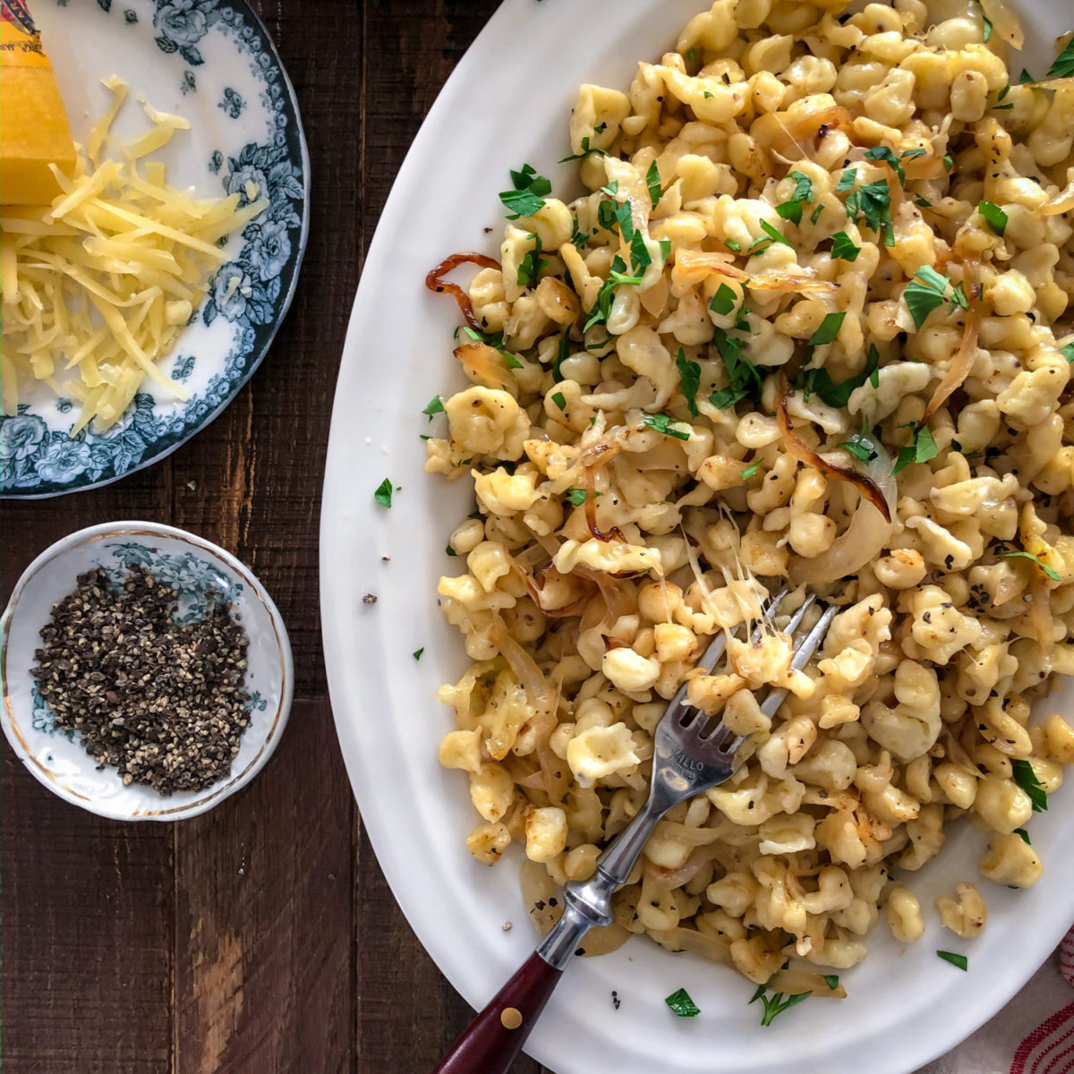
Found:
[[[562,975],[534,952],[433,1074],[507,1074]]]

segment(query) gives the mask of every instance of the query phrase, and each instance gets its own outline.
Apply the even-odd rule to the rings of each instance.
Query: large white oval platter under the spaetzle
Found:
[[[451,983],[483,1005],[528,955],[535,933],[518,858],[488,869],[466,852],[476,823],[462,773],[437,746],[453,715],[433,698],[467,661],[441,620],[436,583],[458,574],[445,542],[471,509],[467,482],[424,476],[421,409],[463,386],[451,368],[453,302],[424,288],[444,257],[495,253],[497,191],[523,161],[569,190],[557,165],[582,82],[625,87],[639,59],[673,47],[703,0],[507,0],[445,86],[400,171],[365,263],[344,350],[321,519],[324,655],[336,727],[378,860],[415,931]],[[1063,4],[1022,0],[1031,44],[1016,62],[1043,73],[1053,39],[1074,27]],[[484,236],[482,228],[494,229]],[[360,410],[362,419],[355,420]],[[437,421],[442,421],[442,417]],[[373,493],[390,478],[390,510]],[[363,601],[366,594],[378,599]],[[419,662],[411,655],[424,647]],[[1064,711],[1068,697],[1047,702]],[[917,874],[926,935],[904,947],[881,924],[869,957],[842,975],[842,1002],[813,1001],[761,1029],[748,982],[690,955],[633,940],[578,959],[529,1039],[558,1074],[908,1074],[954,1047],[1029,978],[1074,917],[1070,823],[1074,780],[1031,822],[1044,879],[1028,891],[982,882],[989,921],[972,944],[941,930],[933,900],[977,875],[983,839],[969,825]],[[1066,828],[1064,830],[1064,825]],[[510,931],[505,921],[516,923]],[[964,952],[963,973],[937,949]],[[676,1018],[664,998],[685,987],[701,1008]],[[611,991],[619,993],[615,1010]],[[416,1002],[419,1002],[416,998]],[[460,1027],[461,1029],[462,1027]]]

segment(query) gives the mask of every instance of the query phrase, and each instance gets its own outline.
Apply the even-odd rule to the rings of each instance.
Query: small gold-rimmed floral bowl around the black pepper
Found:
[[[99,769],[74,731],[57,730],[30,671],[53,605],[73,593],[79,575],[103,568],[121,583],[140,564],[178,591],[180,622],[202,616],[208,594],[220,594],[246,630],[245,687],[250,723],[231,772],[204,790],[162,797],[141,784],[124,786],[114,768]],[[34,778],[60,798],[117,821],[179,821],[197,816],[244,787],[279,743],[291,709],[294,668],[287,628],[272,597],[233,555],[194,534],[156,522],[106,522],[79,529],[27,567],[0,618],[0,727]]]

